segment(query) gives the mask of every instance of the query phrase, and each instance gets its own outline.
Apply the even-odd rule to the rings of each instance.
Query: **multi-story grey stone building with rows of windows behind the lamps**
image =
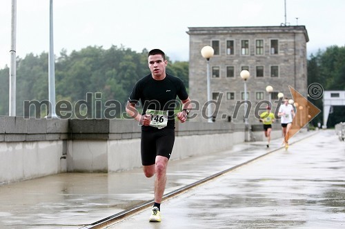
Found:
[[[209,61],[211,99],[219,101],[222,94],[216,121],[243,122],[243,105],[235,109],[237,101],[244,101],[242,70],[250,72],[246,81],[251,106],[248,106],[249,120],[255,119],[255,106],[265,108],[266,103],[260,101],[269,101],[270,96],[273,111],[277,108],[279,92],[292,99],[289,86],[306,96],[309,39],[304,26],[189,28],[187,33],[190,37],[189,94],[200,105],[193,121],[206,121],[206,112],[202,112],[207,101],[206,59],[201,56],[204,46],[211,46],[215,51]],[[271,94],[266,92],[266,86],[273,87]]]

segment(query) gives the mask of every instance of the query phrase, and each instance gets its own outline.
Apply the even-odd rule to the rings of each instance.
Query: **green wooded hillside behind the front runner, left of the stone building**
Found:
[[[138,53],[123,46],[111,46],[108,50],[101,46],[88,46],[70,54],[61,50],[59,57],[55,58],[56,101],[65,100],[75,106],[77,101],[86,100],[87,93],[92,93],[92,105],[101,100],[103,107],[97,107],[96,111],[88,107],[88,110],[94,114],[102,113],[107,101],[116,100],[121,104],[116,108],[116,116],[120,117],[135,82],[150,73],[147,54],[146,49]],[[169,61],[167,72],[180,77],[188,85],[188,62]],[[9,68],[0,70],[0,79],[0,115],[8,115]],[[46,52],[40,55],[30,53],[17,59],[17,116],[23,115],[24,100],[48,100]],[[34,110],[30,112],[30,115],[35,115]],[[41,115],[46,115],[46,112]]]

